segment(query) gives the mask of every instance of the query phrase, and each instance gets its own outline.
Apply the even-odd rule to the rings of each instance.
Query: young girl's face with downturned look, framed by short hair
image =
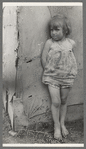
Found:
[[[63,27],[58,22],[51,23],[50,34],[53,40],[60,41],[65,37],[63,34]]]

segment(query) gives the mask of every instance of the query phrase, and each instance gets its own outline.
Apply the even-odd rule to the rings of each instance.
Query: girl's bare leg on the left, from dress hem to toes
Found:
[[[50,85],[48,85],[50,96],[51,96],[51,111],[52,111],[52,117],[54,120],[54,138],[58,140],[62,140],[61,136],[61,127],[60,127],[60,121],[59,121],[59,112],[60,112],[60,90],[59,88],[54,88]]]

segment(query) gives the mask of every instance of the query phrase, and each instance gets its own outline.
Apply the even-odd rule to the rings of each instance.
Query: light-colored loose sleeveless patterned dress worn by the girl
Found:
[[[53,86],[73,85],[77,74],[77,63],[72,51],[74,46],[75,42],[69,38],[62,42],[52,42],[42,77],[44,84]]]

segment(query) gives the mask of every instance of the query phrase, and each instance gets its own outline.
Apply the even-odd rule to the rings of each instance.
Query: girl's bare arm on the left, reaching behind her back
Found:
[[[49,48],[50,48],[50,44],[51,44],[50,40],[47,40],[46,43],[45,43],[43,52],[42,52],[42,65],[43,65],[43,68],[45,68],[45,65],[46,65],[46,57],[47,57],[47,54],[48,54],[48,51],[49,51]]]

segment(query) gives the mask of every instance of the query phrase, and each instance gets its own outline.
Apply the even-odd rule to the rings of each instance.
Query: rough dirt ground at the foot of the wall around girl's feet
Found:
[[[39,129],[36,131],[35,126],[30,128],[23,128],[16,136],[11,136],[9,131],[11,130],[10,120],[3,111],[3,144],[57,144],[57,143],[84,143],[84,129],[83,120],[76,120],[73,122],[66,122],[66,127],[69,131],[67,138],[63,138],[63,142],[58,142],[53,138],[53,124],[42,123]]]

